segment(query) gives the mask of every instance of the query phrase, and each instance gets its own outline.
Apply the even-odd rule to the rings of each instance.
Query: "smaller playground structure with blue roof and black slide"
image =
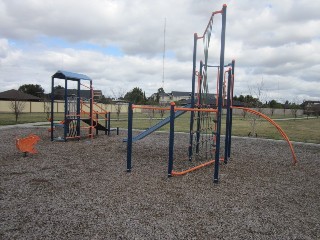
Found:
[[[64,119],[59,123],[55,123],[54,111],[56,78],[64,79]],[[88,81],[89,85],[83,84],[82,80]],[[68,95],[68,81],[76,82],[75,94]],[[81,87],[89,89],[88,99],[81,97]],[[81,137],[93,139],[94,134],[97,135],[99,130],[107,135],[110,134],[110,112],[97,105],[93,96],[92,79],[86,75],[58,71],[52,76],[51,127],[49,129],[51,141],[79,140]]]

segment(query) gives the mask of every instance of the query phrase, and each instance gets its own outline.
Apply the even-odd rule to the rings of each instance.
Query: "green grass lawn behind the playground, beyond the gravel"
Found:
[[[163,117],[167,117],[166,113]],[[111,127],[127,128],[128,115],[120,114],[119,120],[115,113],[111,114]],[[148,113],[134,113],[133,115],[133,128],[134,129],[147,129],[160,121],[161,116],[159,113],[151,115]],[[274,119],[281,119],[281,116],[273,116]],[[63,114],[55,114],[56,120],[62,120]],[[30,122],[46,122],[45,113],[24,113],[18,119],[18,124]],[[242,116],[234,116],[232,135],[234,136],[248,136],[252,131],[252,117],[249,114],[243,119]],[[175,120],[175,131],[188,132],[190,127],[190,113],[185,113]],[[312,119],[290,119],[290,120],[276,120],[276,123],[286,132],[291,141],[309,142],[320,144],[320,118]],[[12,125],[15,123],[15,118],[12,113],[0,114],[0,125]],[[49,124],[49,123],[48,123]],[[161,131],[169,131],[169,124],[160,129]],[[223,116],[222,134],[225,132],[225,118]],[[277,129],[269,122],[262,118],[257,118],[256,133],[258,137],[270,139],[282,139]]]

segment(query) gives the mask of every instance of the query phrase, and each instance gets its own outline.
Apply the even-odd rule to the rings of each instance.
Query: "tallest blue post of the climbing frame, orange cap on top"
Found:
[[[222,85],[223,85],[223,68],[224,68],[224,50],[225,50],[225,34],[226,34],[226,16],[227,5],[222,8],[222,29],[221,29],[221,48],[220,48],[220,76],[219,76],[219,97],[218,97],[218,112],[217,112],[217,138],[216,152],[214,162],[213,182],[219,182],[219,164],[220,164],[220,134],[221,134],[221,113],[222,113]]]

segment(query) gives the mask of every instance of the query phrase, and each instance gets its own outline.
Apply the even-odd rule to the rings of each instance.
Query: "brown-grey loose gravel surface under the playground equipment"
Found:
[[[38,134],[23,157],[15,138]],[[167,178],[168,134],[50,142],[44,128],[0,130],[0,239],[320,239],[320,145],[234,138],[232,159]],[[176,134],[175,170],[187,161]],[[184,160],[182,163],[182,160]]]

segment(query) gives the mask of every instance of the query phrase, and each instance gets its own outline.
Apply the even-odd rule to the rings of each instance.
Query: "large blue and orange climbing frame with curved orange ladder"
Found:
[[[180,176],[199,168],[214,164],[213,182],[219,182],[219,165],[220,162],[227,163],[231,156],[231,134],[232,134],[232,115],[233,109],[241,108],[233,106],[233,91],[234,91],[234,76],[235,76],[235,61],[225,65],[225,31],[226,31],[226,10],[227,6],[223,5],[222,9],[212,13],[209,23],[203,33],[198,36],[194,34],[194,48],[193,48],[193,69],[192,69],[192,91],[190,104],[184,107],[176,107],[171,103],[170,108],[154,108],[148,106],[135,106],[129,104],[128,108],[128,138],[127,142],[127,172],[132,169],[132,143],[138,141],[166,124],[170,124],[169,133],[169,160],[168,160],[168,176]],[[210,38],[213,29],[213,18],[215,15],[221,14],[221,39],[220,39],[220,63],[219,65],[209,64],[209,47]],[[200,67],[197,71],[197,47],[198,40],[203,39],[204,61],[200,61]],[[216,96],[212,98],[209,93],[209,70],[217,69],[217,84]],[[197,92],[196,92],[197,80]],[[137,136],[132,136],[132,119],[134,108],[145,108],[154,110],[170,110],[170,116],[160,121],[158,124],[150,127]],[[222,111],[226,113],[226,131],[224,149],[221,149],[221,123]],[[256,114],[265,118],[273,124],[284,139],[288,142],[293,156],[293,164],[297,162],[294,149],[285,132],[272,119],[266,115],[248,108],[241,108],[251,114]],[[174,133],[175,133],[175,119],[182,116],[184,113],[190,112],[190,131],[189,131],[189,146],[188,146],[188,160],[193,162],[200,159],[202,162],[194,167],[183,171],[174,171]],[[222,151],[224,150],[224,151]],[[223,157],[220,155],[224,152]],[[205,160],[205,161],[203,161]]]

